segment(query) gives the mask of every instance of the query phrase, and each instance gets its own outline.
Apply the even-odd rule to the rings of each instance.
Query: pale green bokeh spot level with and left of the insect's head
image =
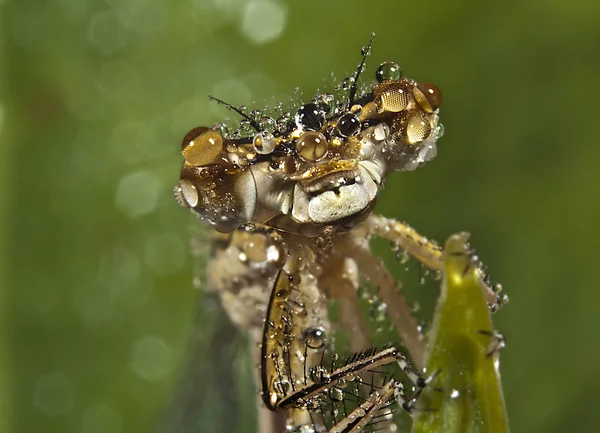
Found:
[[[148,171],[124,176],[117,187],[115,206],[130,218],[147,215],[158,204],[160,182]]]

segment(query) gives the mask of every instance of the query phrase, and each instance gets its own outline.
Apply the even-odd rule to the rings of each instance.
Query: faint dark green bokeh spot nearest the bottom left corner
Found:
[[[75,406],[75,385],[58,371],[41,375],[35,383],[33,402],[48,416],[69,413]]]

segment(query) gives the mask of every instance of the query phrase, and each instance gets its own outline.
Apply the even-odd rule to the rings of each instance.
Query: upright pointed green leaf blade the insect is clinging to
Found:
[[[468,235],[444,248],[444,279],[430,334],[427,371],[436,374],[415,407],[414,433],[508,432],[494,330]]]

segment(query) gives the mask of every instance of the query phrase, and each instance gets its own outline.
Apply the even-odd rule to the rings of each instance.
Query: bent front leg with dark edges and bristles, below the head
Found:
[[[323,413],[313,412],[314,409],[311,408],[315,405],[318,407],[318,402],[327,398],[341,382],[357,381],[357,384],[365,384],[363,378],[371,377],[381,366],[397,363],[413,382],[417,393],[430,382],[431,378],[419,375],[404,354],[394,347],[357,353],[340,367],[335,368],[332,364],[330,369],[324,368],[326,348],[324,345],[321,347],[313,340],[312,335],[305,332],[306,329],[311,329],[310,326],[307,327],[307,323],[311,323],[311,320],[314,323],[314,318],[310,318],[314,313],[313,306],[309,306],[308,301],[305,303],[305,298],[305,294],[298,289],[294,276],[284,270],[280,271],[269,300],[262,338],[263,402],[270,410],[287,410],[288,426],[293,428],[309,425],[315,426],[317,430],[321,429],[324,426]],[[371,389],[370,394],[378,392],[373,387]],[[365,397],[360,403],[368,401],[370,397]],[[342,401],[345,402],[346,398],[342,397]],[[376,397],[373,399],[377,400]],[[365,413],[361,422],[368,423],[376,412],[372,410]],[[351,419],[346,422],[348,425],[353,423]],[[358,431],[349,428],[342,431]]]

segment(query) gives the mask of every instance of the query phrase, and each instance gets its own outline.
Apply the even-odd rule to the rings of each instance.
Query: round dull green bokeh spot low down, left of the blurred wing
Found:
[[[148,382],[166,379],[175,368],[173,349],[154,335],[140,338],[133,344],[129,366]]]

